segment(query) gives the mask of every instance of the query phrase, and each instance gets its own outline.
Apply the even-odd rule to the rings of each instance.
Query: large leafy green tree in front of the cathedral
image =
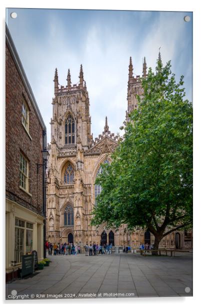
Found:
[[[122,223],[143,227],[159,241],[174,230],[192,226],[192,104],[184,99],[170,61],[142,80],[143,96],[125,123],[125,133],[102,165],[96,183],[102,187],[91,224]]]

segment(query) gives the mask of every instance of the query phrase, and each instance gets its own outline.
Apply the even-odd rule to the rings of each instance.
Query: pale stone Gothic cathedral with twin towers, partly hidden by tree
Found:
[[[136,94],[143,93],[141,80],[146,77],[146,69],[144,58],[142,76],[133,76],[130,57],[125,120],[129,119],[130,111],[137,108]],[[46,239],[52,243],[74,242],[80,247],[86,243],[109,242],[115,246],[153,243],[154,236],[148,230],[130,233],[126,230],[126,224],[118,230],[107,229],[106,223],[97,228],[90,225],[95,198],[101,191],[101,186],[94,184],[95,178],[101,172],[100,165],[111,161],[110,154],[117,146],[119,137],[110,132],[105,117],[102,133],[93,139],[82,65],[78,84],[71,84],[69,69],[66,81],[66,86],[59,85],[55,69],[51,142],[48,144]],[[186,236],[183,231],[172,232],[161,240],[160,245],[182,248],[189,244]]]

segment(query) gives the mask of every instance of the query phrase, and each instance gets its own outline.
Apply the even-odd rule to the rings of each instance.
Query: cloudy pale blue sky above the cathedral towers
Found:
[[[12,19],[11,12],[17,17]],[[190,16],[185,22],[183,17]],[[30,83],[50,141],[53,77],[60,85],[79,81],[80,64],[89,93],[91,132],[100,134],[107,116],[111,132],[120,132],[127,109],[129,57],[141,75],[142,58],[155,69],[158,49],[163,64],[179,80],[192,101],[192,13],[168,11],[8,8],[6,23]]]

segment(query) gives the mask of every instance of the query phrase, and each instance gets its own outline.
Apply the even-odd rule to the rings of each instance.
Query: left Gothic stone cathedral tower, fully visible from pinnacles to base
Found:
[[[82,65],[78,85],[71,85],[69,69],[66,80],[67,85],[59,87],[55,69],[51,144],[48,147],[47,238],[58,242],[61,237],[66,237],[65,241],[73,241],[76,233],[80,242],[79,231],[84,229],[83,151],[92,144],[89,98]],[[65,225],[69,226],[68,234],[62,234]]]

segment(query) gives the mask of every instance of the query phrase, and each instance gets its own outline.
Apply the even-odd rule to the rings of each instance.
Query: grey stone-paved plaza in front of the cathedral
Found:
[[[52,255],[38,274],[6,284],[6,298],[192,296],[192,254]],[[186,288],[187,287],[187,288]],[[187,291],[187,292],[186,292]],[[25,296],[26,295],[26,296]],[[16,297],[14,298],[16,299]]]

